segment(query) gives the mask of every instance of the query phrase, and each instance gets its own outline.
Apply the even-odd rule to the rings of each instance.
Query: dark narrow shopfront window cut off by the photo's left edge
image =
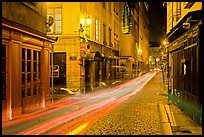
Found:
[[[6,45],[2,44],[2,53],[1,53],[1,61],[2,61],[2,100],[6,100]]]

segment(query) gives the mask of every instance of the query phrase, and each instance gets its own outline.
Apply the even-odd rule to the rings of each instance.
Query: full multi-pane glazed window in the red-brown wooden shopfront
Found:
[[[40,54],[35,49],[22,48],[22,98],[40,91]]]

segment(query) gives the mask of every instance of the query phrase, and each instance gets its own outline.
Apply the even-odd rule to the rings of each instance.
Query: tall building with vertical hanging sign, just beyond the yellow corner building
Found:
[[[147,72],[149,56],[148,4],[121,2],[120,66],[129,77]]]

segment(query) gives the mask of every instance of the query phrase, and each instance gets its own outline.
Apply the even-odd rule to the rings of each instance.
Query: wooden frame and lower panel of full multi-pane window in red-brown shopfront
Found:
[[[28,51],[30,50],[30,58],[28,58]],[[34,57],[36,52],[36,57]],[[40,94],[41,85],[41,49],[32,48],[29,46],[21,47],[21,98],[32,97]],[[24,61],[24,64],[23,64]],[[30,72],[28,72],[28,62],[30,62]],[[36,65],[34,65],[36,63]],[[25,67],[23,69],[23,67]],[[36,67],[36,68],[34,68]],[[36,69],[36,71],[35,71]],[[24,71],[23,71],[24,70]],[[30,74],[30,81],[28,81],[28,74]],[[24,77],[24,78],[23,78]]]

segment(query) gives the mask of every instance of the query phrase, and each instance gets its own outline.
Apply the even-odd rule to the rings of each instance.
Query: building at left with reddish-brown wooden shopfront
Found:
[[[53,42],[46,36],[46,4],[2,2],[3,119],[45,107]]]

